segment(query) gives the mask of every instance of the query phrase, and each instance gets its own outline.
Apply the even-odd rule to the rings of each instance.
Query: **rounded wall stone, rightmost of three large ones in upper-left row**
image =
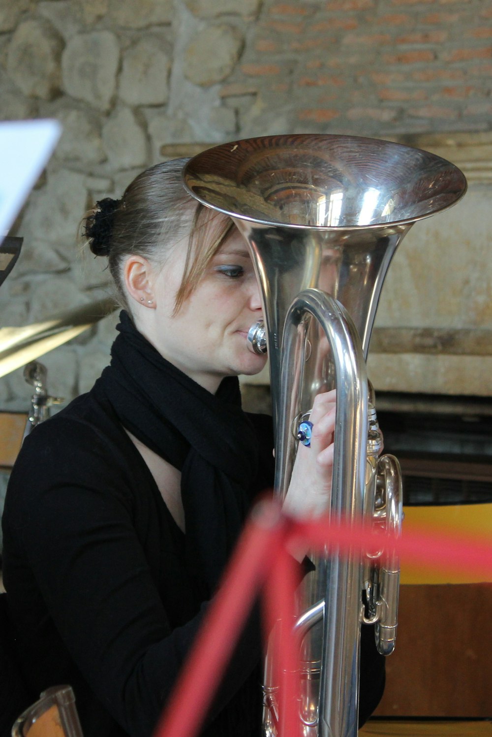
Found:
[[[171,63],[158,38],[147,36],[125,52],[119,97],[128,105],[164,105]]]

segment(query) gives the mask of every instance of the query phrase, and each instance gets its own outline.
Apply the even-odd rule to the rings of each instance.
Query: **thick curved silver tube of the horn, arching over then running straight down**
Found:
[[[322,326],[334,361],[337,385],[337,441],[334,449],[331,485],[331,517],[334,520],[360,519],[364,510],[365,445],[368,428],[368,379],[362,346],[348,312],[334,298],[320,290],[309,289],[298,295],[287,312],[282,351],[281,416],[292,413],[297,402],[295,377],[298,373],[298,329],[309,318]],[[284,423],[278,428],[278,473],[275,489],[285,489],[291,475],[292,433]],[[320,661],[320,696],[318,715],[312,703],[304,708],[304,734],[350,735],[357,730],[357,694],[359,685],[359,636],[361,610],[361,565],[358,556],[331,554],[323,561],[326,575],[318,582],[321,588],[324,619],[322,636],[305,642],[307,663]],[[321,605],[312,607],[309,620],[301,615],[303,628],[320,618]],[[311,639],[313,640],[311,642]],[[320,647],[323,642],[323,648]],[[350,668],[343,664],[350,663]],[[302,666],[309,673],[309,666]],[[317,699],[316,699],[317,700]],[[318,716],[318,719],[317,719]]]

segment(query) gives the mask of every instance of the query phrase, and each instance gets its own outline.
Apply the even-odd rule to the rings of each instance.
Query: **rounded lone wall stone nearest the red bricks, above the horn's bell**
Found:
[[[228,25],[205,27],[194,35],[186,49],[185,77],[203,87],[222,82],[239,61],[243,46],[239,29]]]

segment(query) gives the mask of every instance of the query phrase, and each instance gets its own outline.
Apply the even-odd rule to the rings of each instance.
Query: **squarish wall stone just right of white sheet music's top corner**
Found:
[[[63,133],[55,149],[56,158],[84,164],[99,164],[105,160],[97,116],[82,110],[63,110],[58,114],[58,120]]]

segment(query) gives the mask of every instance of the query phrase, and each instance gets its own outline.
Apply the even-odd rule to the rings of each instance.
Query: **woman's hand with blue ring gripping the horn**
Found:
[[[299,443],[284,511],[294,517],[319,517],[328,511],[333,470],[335,391],[317,394],[309,422],[312,422],[311,447]]]

